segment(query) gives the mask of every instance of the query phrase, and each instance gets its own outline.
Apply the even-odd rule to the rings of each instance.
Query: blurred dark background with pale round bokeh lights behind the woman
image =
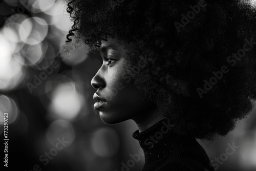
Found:
[[[254,2],[254,1],[252,1]],[[8,113],[8,168],[4,170],[127,169],[140,149],[129,120],[104,124],[93,109],[91,79],[101,66],[62,46],[72,26],[58,0],[4,0],[0,3],[0,136]],[[256,170],[255,110],[237,128],[214,142],[200,142],[216,170]],[[227,148],[235,145],[233,151]],[[231,155],[230,153],[233,152]],[[1,156],[2,160],[5,154]],[[2,169],[1,169],[2,170]]]

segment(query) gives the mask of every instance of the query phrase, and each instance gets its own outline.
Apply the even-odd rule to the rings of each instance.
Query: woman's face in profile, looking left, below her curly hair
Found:
[[[144,100],[144,95],[134,86],[132,76],[125,70],[129,63],[125,53],[124,46],[118,45],[115,39],[101,41],[100,54],[103,63],[91,84],[97,89],[94,94],[95,101],[104,101],[96,102],[94,109],[99,111],[101,120],[106,124],[150,113],[156,107]]]

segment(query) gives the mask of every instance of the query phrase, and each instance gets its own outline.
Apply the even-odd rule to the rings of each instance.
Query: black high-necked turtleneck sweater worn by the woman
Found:
[[[195,137],[178,135],[165,119],[139,133],[133,133],[145,155],[143,171],[214,171],[204,148]]]

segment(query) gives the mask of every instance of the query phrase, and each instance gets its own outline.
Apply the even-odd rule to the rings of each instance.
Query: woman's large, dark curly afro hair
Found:
[[[253,109],[256,12],[251,1],[73,0],[67,6],[74,22],[67,45],[75,40],[97,47],[95,42],[112,36],[125,42],[131,65],[140,55],[152,59],[134,77],[135,86],[177,133],[214,140]]]

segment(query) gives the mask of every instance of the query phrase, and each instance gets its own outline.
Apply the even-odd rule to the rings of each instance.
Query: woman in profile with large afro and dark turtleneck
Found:
[[[196,138],[225,136],[256,97],[250,1],[78,0],[67,11],[67,45],[103,60],[94,108],[106,124],[137,123],[143,170],[214,170]]]

